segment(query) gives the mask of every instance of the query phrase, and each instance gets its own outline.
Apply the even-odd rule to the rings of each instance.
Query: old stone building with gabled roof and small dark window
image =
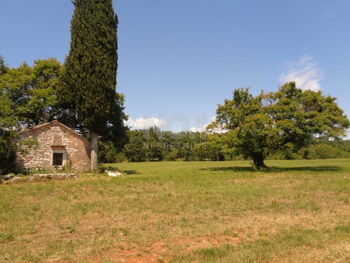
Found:
[[[90,168],[90,141],[57,120],[21,132],[16,145],[16,164],[19,169],[55,169],[68,163],[75,171]]]

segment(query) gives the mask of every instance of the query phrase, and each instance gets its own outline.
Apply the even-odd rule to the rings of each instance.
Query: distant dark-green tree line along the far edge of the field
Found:
[[[122,149],[110,143],[100,142],[99,162],[143,162],[143,161],[231,161],[251,160],[244,154],[237,154],[225,143],[228,134],[207,134],[200,139],[200,133],[188,132],[182,139],[166,136],[159,139],[150,129],[152,136],[144,139],[144,130],[128,130],[128,142]],[[192,136],[190,135],[192,134]],[[194,138],[194,139],[193,139]],[[315,139],[307,147],[295,151],[292,147],[281,148],[266,156],[267,160],[300,160],[349,158],[350,140],[324,141]]]

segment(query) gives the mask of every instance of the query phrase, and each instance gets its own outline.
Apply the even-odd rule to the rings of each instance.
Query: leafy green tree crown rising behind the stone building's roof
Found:
[[[18,68],[3,67],[2,118],[12,119],[12,127],[30,127],[60,118],[63,112],[56,88],[61,67],[55,58],[35,60],[33,66],[24,62]]]

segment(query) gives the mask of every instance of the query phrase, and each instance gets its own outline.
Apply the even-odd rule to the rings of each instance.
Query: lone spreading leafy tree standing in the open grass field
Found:
[[[255,168],[264,168],[264,158],[275,151],[286,147],[297,151],[315,138],[345,136],[349,120],[335,100],[321,91],[298,89],[295,82],[256,97],[248,88],[240,88],[233,91],[231,100],[218,105],[209,128],[228,130],[233,150],[252,158]]]

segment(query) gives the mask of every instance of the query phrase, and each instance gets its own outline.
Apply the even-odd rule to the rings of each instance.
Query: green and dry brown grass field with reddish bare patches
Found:
[[[0,262],[350,262],[350,159],[0,185]]]

